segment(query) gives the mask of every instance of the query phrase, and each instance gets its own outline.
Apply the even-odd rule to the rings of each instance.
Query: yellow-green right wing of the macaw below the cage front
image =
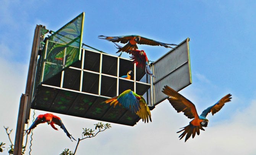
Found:
[[[139,105],[141,108],[139,109],[138,112],[136,112],[136,115],[138,115],[142,119],[142,121],[144,121],[145,123],[146,121],[148,123],[149,120],[152,122],[149,107],[147,106],[147,103],[143,98],[143,96],[140,96],[140,97],[141,99],[139,100]]]

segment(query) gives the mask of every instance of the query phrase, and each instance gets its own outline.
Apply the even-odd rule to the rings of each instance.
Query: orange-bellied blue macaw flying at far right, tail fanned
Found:
[[[231,94],[227,94],[226,96],[222,97],[217,103],[214,105],[208,107],[205,109],[201,115],[199,116],[198,113],[196,112],[196,107],[195,105],[186,99],[184,96],[179,94],[177,91],[173,90],[169,86],[164,86],[162,92],[166,95],[169,96],[168,100],[170,104],[172,104],[173,108],[177,110],[177,112],[184,112],[184,115],[190,119],[194,118],[192,121],[190,121],[190,124],[183,127],[182,130],[178,131],[177,133],[180,133],[183,131],[183,133],[180,134],[179,138],[182,139],[183,137],[186,136],[186,140],[190,138],[192,135],[192,138],[194,136],[200,134],[200,129],[204,131],[203,127],[207,127],[208,125],[208,120],[206,119],[206,116],[208,113],[214,113],[218,112],[226,102],[231,101],[232,99]]]

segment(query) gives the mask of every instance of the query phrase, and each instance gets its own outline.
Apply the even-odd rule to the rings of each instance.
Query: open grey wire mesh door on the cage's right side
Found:
[[[165,85],[180,91],[192,83],[188,42],[189,38],[152,64],[154,106],[167,98],[162,93]]]

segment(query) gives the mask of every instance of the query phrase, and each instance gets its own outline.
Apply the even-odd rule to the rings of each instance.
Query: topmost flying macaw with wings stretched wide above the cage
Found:
[[[98,38],[105,39],[110,42],[127,43],[125,46],[119,49],[117,53],[127,52],[128,50],[137,50],[138,49],[137,43],[152,45],[152,46],[164,46],[165,48],[172,48],[171,46],[168,46],[168,45],[177,46],[176,44],[167,44],[167,43],[157,42],[156,40],[144,38],[139,35],[125,35],[125,36],[118,36],[118,37],[107,37],[104,35],[99,35]]]

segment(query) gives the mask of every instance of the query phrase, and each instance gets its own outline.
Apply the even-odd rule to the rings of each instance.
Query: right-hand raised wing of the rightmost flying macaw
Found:
[[[217,103],[205,109],[200,116],[206,117],[210,112],[212,112],[212,115],[214,115],[214,113],[218,112],[226,102],[231,101],[231,96],[231,94],[227,94],[226,96],[222,97]]]

